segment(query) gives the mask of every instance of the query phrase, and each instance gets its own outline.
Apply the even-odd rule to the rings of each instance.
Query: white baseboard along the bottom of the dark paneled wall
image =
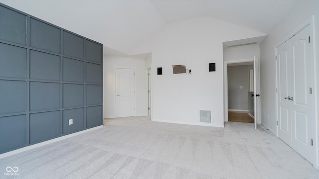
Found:
[[[47,144],[51,144],[53,142],[57,142],[57,141],[60,141],[60,140],[63,140],[63,139],[67,139],[67,138],[70,138],[70,137],[73,137],[73,136],[76,136],[76,135],[79,135],[79,134],[83,134],[83,133],[86,133],[86,132],[89,132],[89,131],[92,131],[92,130],[95,130],[95,129],[99,129],[99,128],[102,128],[102,127],[103,127],[103,125],[100,125],[100,126],[97,126],[97,127],[93,127],[93,128],[90,128],[90,129],[86,129],[86,130],[83,130],[83,131],[75,132],[75,133],[72,133],[72,134],[68,134],[68,135],[65,135],[65,136],[61,136],[61,137],[54,138],[54,139],[51,139],[51,140],[47,140],[47,141],[44,141],[44,142],[40,142],[40,143],[37,143],[37,144],[29,145],[29,146],[26,146],[26,147],[23,147],[23,148],[20,148],[20,149],[9,151],[9,152],[0,154],[0,159],[2,159],[4,157],[11,156],[11,155],[14,155],[14,154],[18,154],[20,152],[28,151],[28,150],[31,150],[31,149],[34,149],[34,148],[37,148],[37,147],[41,147],[41,146],[44,146],[44,145],[47,145]]]

